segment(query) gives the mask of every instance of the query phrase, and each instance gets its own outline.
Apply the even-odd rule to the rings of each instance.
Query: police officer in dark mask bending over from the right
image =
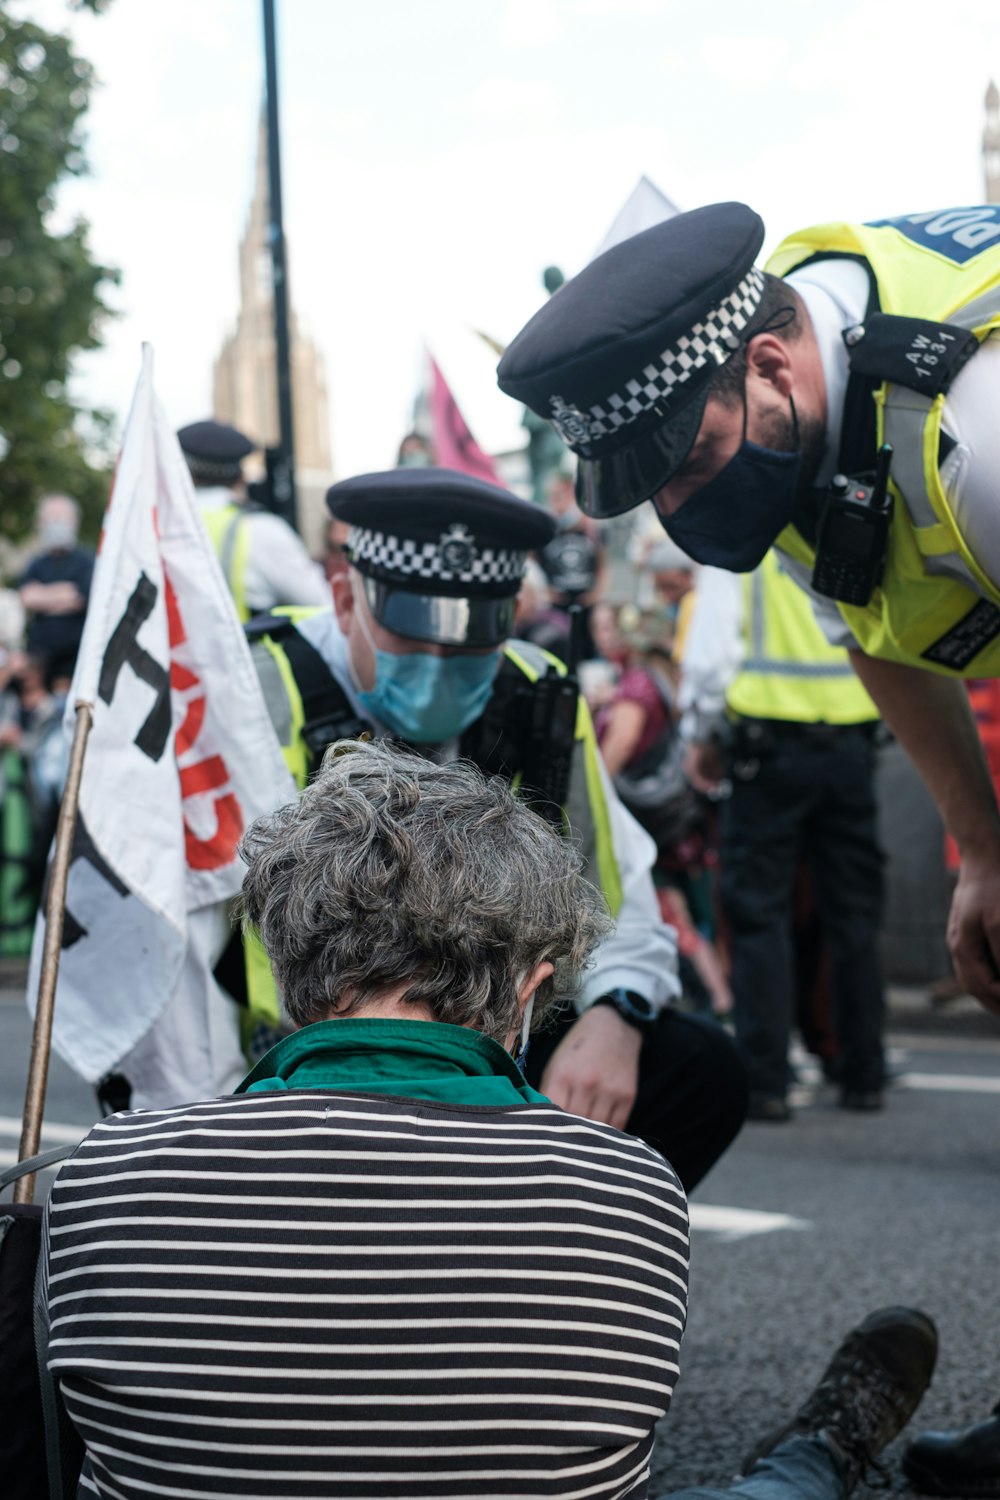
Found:
[[[1000,674],[1000,207],[826,224],[766,272],[762,242],[736,202],[625,240],[499,384],[579,454],[586,512],[652,500],[736,573],[777,543],[834,610],[961,850],[958,975],[1000,1010],[1000,818],[960,681]]]

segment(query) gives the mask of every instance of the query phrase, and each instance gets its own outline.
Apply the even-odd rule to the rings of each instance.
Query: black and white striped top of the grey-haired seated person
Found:
[[[610,1126],[315,1089],[118,1114],[48,1232],[81,1496],[646,1494],[687,1214]]]

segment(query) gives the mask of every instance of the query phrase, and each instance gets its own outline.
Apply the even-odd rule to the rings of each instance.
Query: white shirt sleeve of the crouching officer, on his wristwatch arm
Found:
[[[585,975],[576,1008],[583,1012],[600,994],[625,988],[636,990],[663,1010],[681,993],[681,981],[676,938],[660,915],[652,886],[657,846],[622,807],[603,762],[600,771],[622,880],[622,904],[615,932],[597,950],[594,966]]]

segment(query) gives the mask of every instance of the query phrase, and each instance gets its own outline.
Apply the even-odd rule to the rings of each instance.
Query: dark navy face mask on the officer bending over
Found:
[[[690,495],[672,516],[660,514],[663,530],[696,562],[729,573],[753,573],[789,525],[802,460],[795,404],[792,420],[793,452],[762,448],[744,435],[715,478]]]

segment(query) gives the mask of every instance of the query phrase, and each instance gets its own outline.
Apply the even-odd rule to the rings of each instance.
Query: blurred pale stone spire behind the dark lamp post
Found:
[[[279,432],[267,195],[267,120],[261,110],[253,200],[240,243],[240,314],[213,372],[216,420],[246,432],[261,448],[273,447]],[[324,495],[333,482],[327,372],[322,354],[298,328],[291,297],[289,327],[298,530],[309,550],[319,555],[327,524]]]

